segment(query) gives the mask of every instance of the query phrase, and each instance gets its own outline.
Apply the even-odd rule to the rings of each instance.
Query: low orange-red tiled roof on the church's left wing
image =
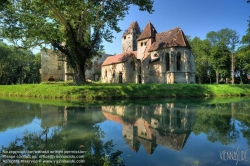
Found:
[[[102,66],[126,62],[130,55],[134,55],[136,57],[137,51],[129,51],[129,52],[121,53],[121,54],[116,54],[114,56],[109,56],[105,59]]]

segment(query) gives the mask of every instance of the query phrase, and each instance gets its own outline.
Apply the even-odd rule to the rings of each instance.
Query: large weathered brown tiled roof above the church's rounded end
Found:
[[[185,34],[178,27],[166,32],[157,33],[155,42],[150,46],[149,51],[176,46],[191,48]]]

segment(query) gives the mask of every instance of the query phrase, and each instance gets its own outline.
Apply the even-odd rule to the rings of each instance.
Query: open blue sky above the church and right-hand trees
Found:
[[[210,31],[230,28],[236,30],[241,39],[248,28],[247,20],[250,20],[247,0],[155,0],[153,9],[153,14],[149,14],[132,6],[125,19],[119,22],[122,31],[113,33],[113,43],[103,42],[105,52],[121,52],[122,34],[134,21],[141,29],[150,21],[157,32],[179,26],[186,35],[201,39],[205,39]]]

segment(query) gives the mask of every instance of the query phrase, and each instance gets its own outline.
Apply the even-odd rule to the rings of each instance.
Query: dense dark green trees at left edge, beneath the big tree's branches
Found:
[[[0,84],[40,82],[40,55],[0,42]]]

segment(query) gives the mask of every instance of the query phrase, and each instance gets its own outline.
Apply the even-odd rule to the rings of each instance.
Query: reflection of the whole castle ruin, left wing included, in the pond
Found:
[[[142,145],[148,154],[152,154],[157,145],[181,151],[195,122],[194,107],[173,103],[93,108],[43,105],[41,113],[44,127],[67,126],[69,118],[93,124],[105,119],[115,121],[122,124],[122,136],[131,150],[137,152]]]

